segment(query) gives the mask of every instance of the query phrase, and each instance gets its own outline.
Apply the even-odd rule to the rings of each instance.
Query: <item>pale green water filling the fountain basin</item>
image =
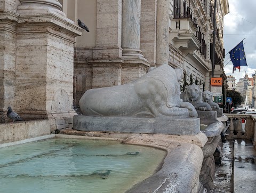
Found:
[[[0,149],[1,192],[124,192],[165,151],[117,141],[50,139]]]

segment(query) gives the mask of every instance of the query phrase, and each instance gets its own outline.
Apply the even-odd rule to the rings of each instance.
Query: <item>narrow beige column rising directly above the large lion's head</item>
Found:
[[[157,0],[156,65],[169,62],[169,7],[167,0]]]

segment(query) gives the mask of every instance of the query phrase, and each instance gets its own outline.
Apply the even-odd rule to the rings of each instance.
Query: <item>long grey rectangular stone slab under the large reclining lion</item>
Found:
[[[74,129],[118,133],[196,135],[200,132],[200,120],[199,118],[164,119],[75,115]]]

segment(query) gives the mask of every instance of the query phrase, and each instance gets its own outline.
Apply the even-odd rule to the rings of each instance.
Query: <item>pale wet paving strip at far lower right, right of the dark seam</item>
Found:
[[[234,144],[234,193],[256,192],[256,151],[250,140]]]

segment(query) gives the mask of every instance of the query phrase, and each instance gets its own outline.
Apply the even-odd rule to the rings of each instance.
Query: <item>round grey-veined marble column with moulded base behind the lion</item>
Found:
[[[140,50],[141,0],[123,0],[122,48],[124,58],[142,58]]]

